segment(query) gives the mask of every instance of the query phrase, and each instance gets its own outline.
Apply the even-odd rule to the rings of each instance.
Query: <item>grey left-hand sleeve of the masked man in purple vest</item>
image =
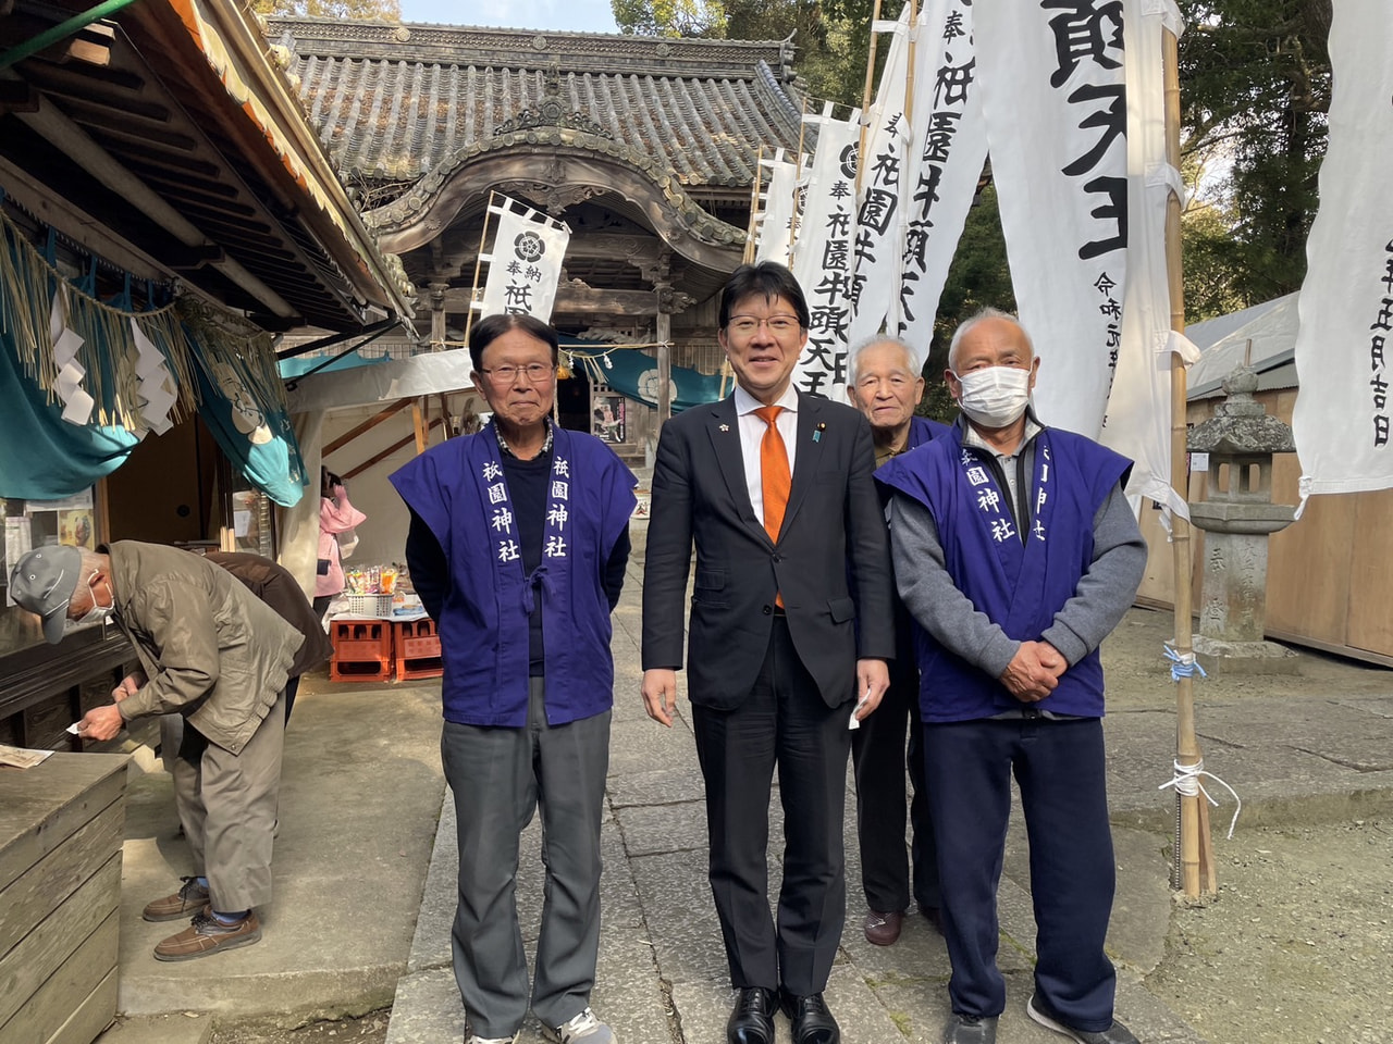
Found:
[[[953,583],[939,528],[924,504],[896,493],[889,515],[894,582],[910,615],[942,646],[992,678],[1000,678],[1021,643],[1007,638],[985,612],[978,612],[971,599]]]

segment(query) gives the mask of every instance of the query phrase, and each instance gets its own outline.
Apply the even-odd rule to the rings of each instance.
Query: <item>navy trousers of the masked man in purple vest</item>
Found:
[[[1035,906],[1035,988],[1064,1020],[1102,1031],[1116,972],[1103,952],[1116,867],[1099,718],[986,718],[924,727],[925,778],[937,828],[943,935],[963,1015],[1000,1015],[996,889],[1021,791]]]

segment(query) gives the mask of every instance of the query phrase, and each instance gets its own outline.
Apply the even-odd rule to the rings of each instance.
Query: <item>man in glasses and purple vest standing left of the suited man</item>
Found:
[[[532,1013],[560,1044],[612,1044],[589,1006],[600,933],[600,820],[634,476],[550,420],[556,331],[493,315],[469,334],[493,420],[391,475],[411,508],[407,564],[439,625],[440,753],[454,795],[454,977],[468,1044],[517,1040],[528,1011],[518,835],[542,813],[546,894]]]

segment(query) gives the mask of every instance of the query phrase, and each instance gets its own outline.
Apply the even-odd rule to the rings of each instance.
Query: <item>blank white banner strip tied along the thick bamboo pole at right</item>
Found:
[[[1134,462],[1130,496],[1151,497],[1190,518],[1185,490],[1170,484],[1170,356],[1199,354],[1170,331],[1166,203],[1184,199],[1180,171],[1166,161],[1163,29],[1177,38],[1174,0],[1124,0],[1127,19],[1127,288],[1123,342],[1107,398],[1102,441]]]

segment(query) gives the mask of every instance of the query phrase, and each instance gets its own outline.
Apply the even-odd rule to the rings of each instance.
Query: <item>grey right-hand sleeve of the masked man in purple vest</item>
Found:
[[[1113,486],[1094,515],[1094,561],[1041,639],[1073,667],[1121,622],[1145,572],[1146,540],[1121,486]]]

